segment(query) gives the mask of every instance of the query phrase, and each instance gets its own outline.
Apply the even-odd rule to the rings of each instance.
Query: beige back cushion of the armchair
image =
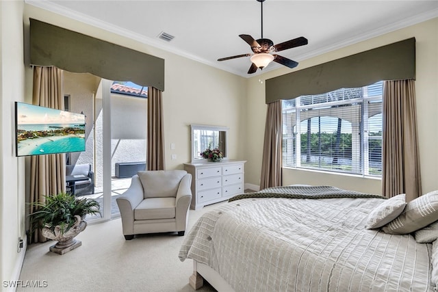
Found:
[[[176,197],[185,170],[155,170],[138,172],[143,185],[144,198]]]

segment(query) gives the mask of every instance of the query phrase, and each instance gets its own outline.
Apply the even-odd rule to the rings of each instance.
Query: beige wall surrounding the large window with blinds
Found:
[[[385,44],[397,42],[407,38],[416,39],[416,62],[417,79],[415,82],[417,96],[417,122],[418,137],[420,142],[420,164],[422,170],[423,192],[438,189],[438,18],[418,25],[413,25],[390,34],[385,34],[364,42],[344,47],[301,61],[295,70],[329,62],[333,59],[345,57],[368,49],[381,47]],[[263,151],[263,128],[266,116],[264,104],[264,83],[261,81],[292,72],[287,68],[281,68],[267,72],[259,77],[248,80],[246,119],[248,159],[246,168],[246,183],[259,185],[261,170],[261,153]],[[293,183],[306,183],[309,185],[331,184],[346,189],[359,189],[361,191],[381,193],[381,181],[372,178],[358,178],[353,176],[341,176],[324,174],[322,172],[309,172],[305,170],[287,169],[283,173],[285,185]]]

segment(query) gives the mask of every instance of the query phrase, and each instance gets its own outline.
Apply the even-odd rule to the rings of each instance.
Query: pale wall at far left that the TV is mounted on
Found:
[[[14,101],[24,101],[23,2],[0,1],[0,279],[18,280],[25,250],[25,158],[15,157]]]

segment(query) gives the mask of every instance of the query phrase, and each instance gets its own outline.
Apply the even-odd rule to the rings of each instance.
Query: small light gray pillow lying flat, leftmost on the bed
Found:
[[[396,219],[406,207],[406,195],[400,194],[385,200],[371,211],[365,222],[366,229],[379,228]]]

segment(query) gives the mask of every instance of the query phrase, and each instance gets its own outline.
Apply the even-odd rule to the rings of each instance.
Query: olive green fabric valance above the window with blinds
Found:
[[[268,79],[266,103],[400,79],[415,79],[415,38]]]

